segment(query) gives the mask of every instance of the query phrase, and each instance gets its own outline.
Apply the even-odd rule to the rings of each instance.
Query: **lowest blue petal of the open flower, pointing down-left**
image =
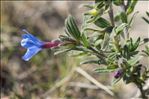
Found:
[[[31,59],[34,55],[36,55],[42,48],[33,46],[27,49],[27,52],[25,55],[22,57],[23,60],[28,61]]]

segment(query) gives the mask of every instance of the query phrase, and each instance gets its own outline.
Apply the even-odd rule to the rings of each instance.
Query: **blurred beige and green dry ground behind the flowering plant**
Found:
[[[2,99],[130,99],[137,93],[133,84],[120,81],[112,87],[115,96],[98,88],[73,68],[80,59],[69,55],[53,55],[43,50],[30,61],[21,57],[26,49],[20,46],[22,29],[44,41],[64,34],[65,18],[71,14],[80,26],[84,8],[80,4],[93,1],[3,1],[1,2],[1,98]],[[131,36],[149,37],[149,27],[141,17],[149,11],[148,1],[139,1],[135,11]],[[147,59],[144,63],[148,64]],[[81,68],[97,81],[110,86],[112,74],[98,74],[97,66],[83,65]]]

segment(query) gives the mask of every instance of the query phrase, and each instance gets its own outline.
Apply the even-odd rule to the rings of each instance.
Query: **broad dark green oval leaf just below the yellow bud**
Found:
[[[101,28],[106,28],[106,27],[109,27],[110,26],[110,23],[106,19],[104,19],[102,17],[100,17],[99,19],[97,19],[94,22],[94,24],[97,25],[98,27],[101,27]]]

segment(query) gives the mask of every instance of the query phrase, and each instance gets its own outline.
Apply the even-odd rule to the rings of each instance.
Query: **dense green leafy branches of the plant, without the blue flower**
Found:
[[[98,64],[99,68],[95,70],[98,73],[121,70],[122,74],[113,78],[113,83],[123,79],[125,83],[145,84],[149,69],[140,61],[149,57],[149,47],[144,50],[139,50],[139,47],[149,39],[138,37],[135,40],[129,36],[131,23],[138,13],[133,14],[136,4],[137,0],[95,0],[94,5],[84,5],[89,10],[84,13],[80,29],[75,19],[68,16],[65,21],[66,35],[59,37],[63,44],[56,53],[74,51],[75,56],[85,57],[81,64]],[[121,7],[122,11],[114,14],[114,5]],[[109,19],[104,18],[106,14]]]

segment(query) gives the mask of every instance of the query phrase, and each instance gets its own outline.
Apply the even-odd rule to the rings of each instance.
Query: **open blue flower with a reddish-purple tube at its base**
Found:
[[[60,44],[60,41],[51,41],[51,42],[40,41],[38,38],[30,34],[28,31],[26,30],[22,31],[26,33],[22,35],[23,39],[21,41],[21,46],[27,49],[27,52],[22,57],[22,59],[25,61],[30,60],[43,48],[57,47]]]

